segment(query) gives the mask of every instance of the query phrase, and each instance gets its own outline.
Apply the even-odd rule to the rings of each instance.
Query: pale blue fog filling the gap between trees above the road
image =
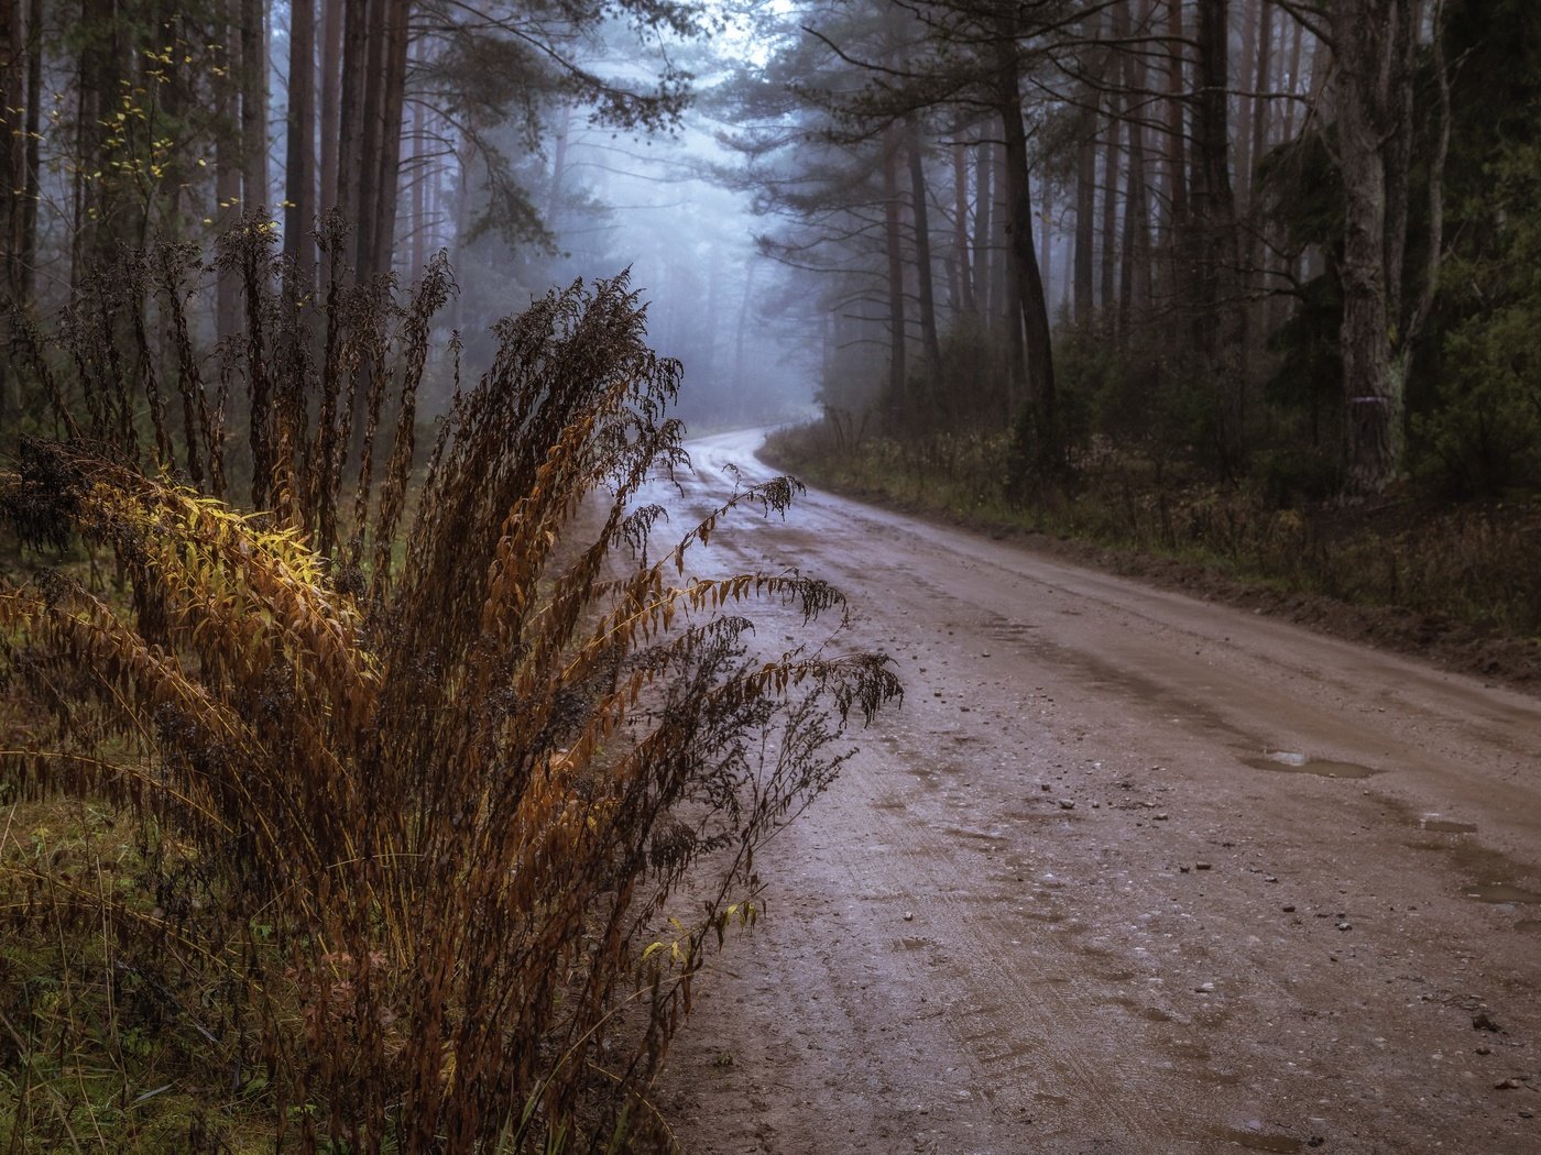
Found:
[[[618,83],[646,85],[655,62],[635,57],[635,37],[627,43],[615,29],[609,42],[616,55],[596,68]],[[697,74],[673,126],[626,131],[595,123],[589,108],[552,106],[533,131],[513,134],[509,152],[525,149],[515,165],[530,209],[522,233],[465,211],[464,202],[492,205],[495,192],[487,168],[456,149],[462,171],[441,188],[445,205],[462,202],[458,222],[441,214],[425,228],[438,228],[430,243],[450,249],[461,283],[452,323],[467,365],[484,363],[488,325],[532,296],[629,271],[647,302],[649,343],[684,367],[676,413],[692,434],[807,416],[818,387],[811,334],[821,331],[820,303],[806,277],[761,253],[757,236],[767,220],[750,192],[734,188],[743,160],[724,143],[738,126],[717,117],[754,42],[729,31],[670,51],[687,54]]]

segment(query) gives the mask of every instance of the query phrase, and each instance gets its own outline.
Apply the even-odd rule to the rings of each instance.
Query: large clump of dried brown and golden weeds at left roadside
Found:
[[[334,222],[321,242],[341,251]],[[213,359],[176,246],[96,283],[55,345],[31,333],[63,436],[25,442],[0,508],[111,557],[125,593],[0,578],[28,719],[0,781],[126,808],[160,881],[151,909],[37,865],[12,918],[52,904],[219,972],[220,1061],[285,1149],[641,1143],[690,978],[755,913],[755,847],[900,687],[875,654],[757,654],[747,604],[838,616],[829,585],[693,574],[794,482],[650,547],[680,367],[624,276],[501,322],[415,471],[442,260],[404,303],[336,265],[305,297],[260,222],[219,263],[247,330]]]

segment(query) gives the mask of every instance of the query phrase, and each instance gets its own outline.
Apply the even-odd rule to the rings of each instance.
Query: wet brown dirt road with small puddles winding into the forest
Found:
[[[1541,702],[824,494],[704,561],[906,701],[760,859],[687,1152],[1541,1152]]]

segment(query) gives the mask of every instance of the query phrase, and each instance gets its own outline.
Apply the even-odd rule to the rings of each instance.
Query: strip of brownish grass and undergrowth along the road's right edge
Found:
[[[1442,502],[1404,487],[1355,505],[1281,500],[1267,484],[1111,447],[1085,454],[1065,484],[1014,496],[1006,434],[883,436],[843,416],[777,431],[763,456],[841,493],[1042,534],[1125,573],[1541,682],[1535,496]]]

